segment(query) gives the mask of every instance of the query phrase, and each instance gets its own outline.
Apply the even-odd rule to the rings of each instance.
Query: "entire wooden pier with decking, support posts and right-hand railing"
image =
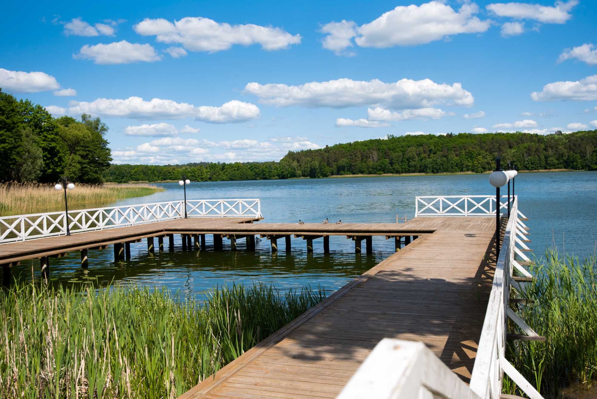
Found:
[[[464,204],[471,201],[472,211],[491,213],[491,197],[484,200],[489,202],[489,210],[479,210],[482,200],[478,197],[466,197]],[[452,198],[441,197],[440,209],[442,201],[448,203],[448,210],[463,201]],[[424,205],[422,211],[429,211],[432,206],[427,202]],[[501,204],[500,210],[504,206]],[[516,201],[512,207],[517,216]],[[181,213],[180,209],[177,211]],[[445,213],[438,213],[442,212]],[[141,240],[147,241],[150,254],[164,251],[164,238],[168,238],[168,250],[172,250],[174,234],[181,235],[183,250],[205,250],[207,234],[213,235],[214,250],[223,248],[224,239],[230,240],[230,250],[238,249],[237,240],[245,240],[245,250],[254,250],[255,236],[259,235],[270,241],[272,252],[278,250],[277,243],[282,238],[288,250],[291,237],[303,238],[307,252],[313,251],[313,240],[322,240],[323,250],[328,252],[331,236],[346,236],[354,241],[356,253],[361,252],[361,241],[365,241],[365,250],[370,253],[371,237],[384,236],[394,240],[396,253],[181,397],[312,399],[336,397],[341,393],[343,398],[352,398],[350,390],[346,391],[349,388],[344,387],[349,383],[348,386],[362,388],[363,375],[366,381],[371,381],[367,367],[363,372],[359,367],[365,366],[363,362],[376,345],[393,345],[388,339],[423,342],[435,354],[437,358],[433,361],[439,362],[452,376],[446,377],[444,373],[442,383],[455,387],[447,389],[443,396],[460,397],[454,394],[459,390],[470,398],[496,397],[504,370],[509,370],[508,374],[519,386],[526,382],[516,375],[516,370],[507,368],[509,363],[503,359],[500,342],[507,335],[504,306],[508,303],[509,284],[522,289],[519,285],[522,283],[510,278],[512,269],[518,269],[525,279],[531,279],[514,257],[516,253],[522,260],[529,260],[514,245],[518,243],[522,250],[528,250],[522,241],[528,242],[525,237],[528,228],[517,217],[511,220],[503,217],[502,220],[507,220],[504,251],[497,260],[495,211],[494,216],[466,216],[469,215],[465,208],[464,216],[442,214],[416,217],[405,223],[339,225],[254,223],[262,219],[259,212],[253,217],[192,217],[3,244],[0,245],[0,264],[4,265],[6,278],[7,274],[10,276],[11,265],[39,258],[40,268],[47,274],[51,270],[50,258],[69,251],[81,251],[81,266],[87,267],[90,248],[106,249],[112,245],[115,260],[118,260],[130,256],[130,243]],[[158,238],[157,247],[155,238]],[[531,337],[536,335],[511,309],[507,317]],[[393,350],[399,348],[396,345],[392,346]],[[383,349],[378,349],[377,355],[380,352],[383,355]],[[482,359],[475,363],[478,354],[482,354]],[[449,373],[450,370],[453,373]],[[470,389],[464,385],[469,382]],[[423,389],[423,382],[420,383]],[[525,389],[525,392],[532,391]],[[367,395],[355,394],[354,397]]]

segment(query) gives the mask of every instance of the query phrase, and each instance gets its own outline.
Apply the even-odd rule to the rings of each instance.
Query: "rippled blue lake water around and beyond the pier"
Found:
[[[129,198],[118,205],[173,201],[183,197],[178,183],[161,184],[165,192]],[[189,199],[260,198],[263,222],[395,222],[396,214],[414,217],[417,195],[495,195],[487,174],[461,176],[361,177],[347,179],[257,180],[249,182],[198,182],[187,186]],[[506,194],[503,190],[502,194]],[[530,220],[530,247],[537,257],[556,245],[578,257],[594,253],[597,242],[597,172],[524,173],[516,177],[519,209]],[[139,284],[166,286],[185,296],[203,293],[215,286],[246,285],[262,281],[280,290],[310,285],[337,290],[393,253],[393,240],[373,238],[372,255],[354,253],[352,240],[330,238],[330,254],[323,253],[323,241],[315,240],[314,253],[306,253],[305,241],[293,238],[293,250],[285,253],[284,240],[272,255],[269,241],[257,242],[255,252],[213,251],[211,237],[207,251],[182,252],[180,236],[176,251],[147,254],[146,243],[131,244],[131,259],[113,261],[112,248],[89,251],[89,268],[79,266],[79,253],[51,258],[53,284],[99,281],[101,285]],[[156,241],[157,244],[157,241]],[[37,259],[13,268],[21,280],[39,278]]]

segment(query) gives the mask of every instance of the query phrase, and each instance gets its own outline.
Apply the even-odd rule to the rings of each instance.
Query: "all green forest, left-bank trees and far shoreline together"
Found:
[[[388,136],[288,152],[279,162],[195,162],[186,165],[110,164],[108,127],[83,114],[53,118],[41,105],[0,89],[0,180],[81,183],[289,179],[345,174],[482,173],[496,156],[518,170],[597,170],[597,130]]]

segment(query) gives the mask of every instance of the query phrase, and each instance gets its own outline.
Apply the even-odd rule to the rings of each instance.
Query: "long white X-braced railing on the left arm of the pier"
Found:
[[[259,199],[187,199],[188,217],[261,217]],[[72,234],[184,217],[184,201],[69,211]],[[0,244],[66,234],[64,211],[0,217]]]

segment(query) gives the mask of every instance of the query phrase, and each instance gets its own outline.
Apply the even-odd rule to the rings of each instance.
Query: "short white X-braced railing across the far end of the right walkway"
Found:
[[[517,196],[518,197],[518,196]],[[513,197],[510,197],[512,207]],[[418,216],[491,216],[496,214],[495,195],[426,195],[415,197]],[[500,199],[500,214],[507,214],[507,195]]]

